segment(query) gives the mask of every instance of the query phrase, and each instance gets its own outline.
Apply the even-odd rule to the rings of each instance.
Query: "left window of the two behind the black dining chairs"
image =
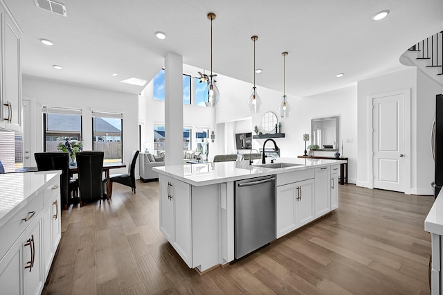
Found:
[[[55,152],[59,143],[82,139],[82,110],[43,107],[44,152]]]

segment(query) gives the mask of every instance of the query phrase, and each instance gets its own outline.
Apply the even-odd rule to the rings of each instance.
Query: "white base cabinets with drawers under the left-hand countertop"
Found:
[[[30,181],[32,182],[32,181]],[[60,242],[60,175],[0,226],[1,294],[40,294]]]

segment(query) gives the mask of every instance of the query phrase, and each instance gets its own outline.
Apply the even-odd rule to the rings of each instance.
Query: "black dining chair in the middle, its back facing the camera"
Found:
[[[82,151],[75,154],[75,157],[77,158],[80,207],[97,199],[102,204],[104,152]]]

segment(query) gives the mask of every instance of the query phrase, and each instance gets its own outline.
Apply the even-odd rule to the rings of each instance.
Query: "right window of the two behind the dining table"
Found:
[[[92,111],[93,150],[105,153],[105,163],[123,162],[123,114]]]

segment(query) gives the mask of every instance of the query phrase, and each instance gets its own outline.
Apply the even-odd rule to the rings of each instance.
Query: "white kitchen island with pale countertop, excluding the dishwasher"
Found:
[[[234,260],[235,181],[275,176],[275,238],[338,207],[343,161],[279,158],[282,168],[248,161],[153,168],[159,172],[160,231],[188,267],[206,271]]]

